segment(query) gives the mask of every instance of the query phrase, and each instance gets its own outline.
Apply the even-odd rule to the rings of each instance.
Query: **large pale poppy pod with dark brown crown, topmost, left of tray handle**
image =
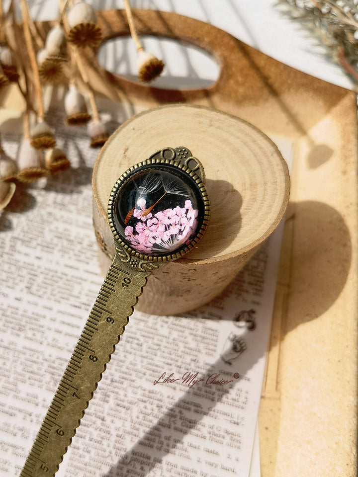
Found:
[[[68,41],[78,47],[96,47],[102,38],[97,26],[93,8],[84,1],[77,2],[69,11],[67,20],[70,26]]]

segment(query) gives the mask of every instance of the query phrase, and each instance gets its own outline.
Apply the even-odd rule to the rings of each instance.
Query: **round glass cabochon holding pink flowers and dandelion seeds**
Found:
[[[168,255],[188,245],[204,216],[196,182],[169,164],[144,166],[130,174],[113,206],[121,239],[146,255]]]

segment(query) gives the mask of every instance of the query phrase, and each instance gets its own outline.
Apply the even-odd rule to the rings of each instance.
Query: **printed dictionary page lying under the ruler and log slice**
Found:
[[[0,217],[4,477],[20,473],[102,283],[90,186],[98,151],[84,129],[58,126],[60,111],[50,118],[73,168],[20,187]],[[17,141],[4,136],[10,156]],[[134,312],[59,476],[249,475],[281,232],[200,310]]]

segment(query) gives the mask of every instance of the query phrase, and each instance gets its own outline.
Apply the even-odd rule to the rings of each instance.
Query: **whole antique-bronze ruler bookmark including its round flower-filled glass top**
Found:
[[[116,253],[20,477],[57,472],[148,275],[203,236],[204,180],[200,161],[180,146],[156,151],[114,184],[108,221]]]

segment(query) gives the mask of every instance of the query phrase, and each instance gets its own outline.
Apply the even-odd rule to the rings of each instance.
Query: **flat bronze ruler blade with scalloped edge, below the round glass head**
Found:
[[[21,477],[57,472],[149,274],[114,257]]]

